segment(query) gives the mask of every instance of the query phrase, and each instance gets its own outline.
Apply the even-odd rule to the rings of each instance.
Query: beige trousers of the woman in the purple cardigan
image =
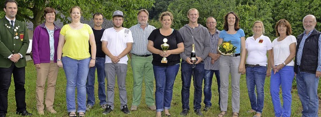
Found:
[[[56,91],[56,81],[58,76],[59,67],[57,63],[50,61],[50,63],[40,63],[40,68],[37,69],[37,82],[36,82],[36,99],[37,99],[37,109],[44,109],[44,92],[46,79],[47,80],[47,90],[46,90],[46,107],[53,108],[55,100]]]

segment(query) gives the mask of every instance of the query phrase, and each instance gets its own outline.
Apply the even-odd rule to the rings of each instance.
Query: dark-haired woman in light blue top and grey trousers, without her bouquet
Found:
[[[218,45],[223,41],[230,41],[236,46],[236,52],[232,55],[220,55],[220,80],[221,80],[221,113],[224,116],[227,111],[227,99],[229,88],[229,74],[231,73],[232,85],[232,111],[233,116],[238,116],[240,110],[240,77],[245,73],[245,34],[239,27],[239,17],[234,12],[224,16],[224,30],[219,35]]]

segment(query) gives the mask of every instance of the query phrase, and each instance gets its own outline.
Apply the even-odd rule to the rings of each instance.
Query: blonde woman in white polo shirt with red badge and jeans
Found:
[[[245,40],[246,58],[246,85],[251,102],[251,110],[256,112],[253,117],[259,117],[262,114],[264,105],[264,82],[265,76],[271,75],[271,64],[267,63],[266,52],[269,56],[272,53],[272,45],[269,37],[263,35],[264,25],[262,21],[253,23],[253,36]],[[267,66],[267,67],[266,67]],[[256,93],[255,94],[255,87]]]

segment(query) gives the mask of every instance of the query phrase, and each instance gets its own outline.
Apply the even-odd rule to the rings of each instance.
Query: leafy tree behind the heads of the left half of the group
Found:
[[[4,4],[6,0],[0,1]],[[78,5],[82,8],[82,16],[91,19],[92,14],[101,12],[105,18],[111,19],[115,10],[123,11],[125,15],[124,26],[130,27],[137,23],[137,12],[140,8],[149,8],[154,0],[16,0],[18,2],[17,19],[29,20],[34,24],[34,28],[44,21],[43,10],[50,6],[58,12],[56,19],[60,19],[64,24],[69,21],[69,10]],[[0,11],[0,17],[4,17],[4,10]]]

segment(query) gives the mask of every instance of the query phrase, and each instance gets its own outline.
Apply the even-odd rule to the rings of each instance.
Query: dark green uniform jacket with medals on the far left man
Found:
[[[9,26],[11,24],[6,17],[0,19],[0,67],[10,67],[13,62],[8,57],[15,53],[23,55],[15,65],[24,67],[27,65],[25,56],[29,46],[28,28],[17,19],[14,26],[16,30]]]

